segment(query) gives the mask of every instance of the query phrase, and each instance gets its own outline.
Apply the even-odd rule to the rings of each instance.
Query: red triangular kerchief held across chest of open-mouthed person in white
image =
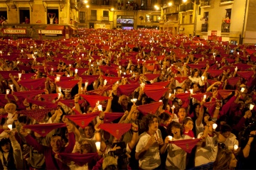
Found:
[[[175,140],[175,141],[170,141],[169,143],[175,144],[178,147],[181,147],[184,151],[187,153],[191,153],[193,147],[196,146],[196,144],[200,141],[201,139],[191,139],[191,140]]]

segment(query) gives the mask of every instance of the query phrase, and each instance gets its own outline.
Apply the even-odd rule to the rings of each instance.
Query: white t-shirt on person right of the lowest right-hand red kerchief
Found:
[[[198,134],[198,138],[203,135],[203,132]],[[210,162],[215,162],[218,152],[218,137],[213,135],[213,137],[206,137],[206,146],[197,147],[196,149],[196,159],[195,166],[201,166],[203,164],[208,164]]]

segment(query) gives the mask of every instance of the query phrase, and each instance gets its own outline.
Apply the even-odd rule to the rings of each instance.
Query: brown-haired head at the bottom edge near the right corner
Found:
[[[235,154],[228,149],[220,150],[217,154],[213,169],[234,169],[237,166],[238,160],[235,159]]]

